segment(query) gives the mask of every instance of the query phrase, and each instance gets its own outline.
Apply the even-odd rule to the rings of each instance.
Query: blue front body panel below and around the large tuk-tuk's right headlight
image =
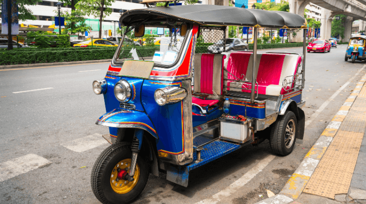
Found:
[[[170,154],[181,154],[184,152],[183,101],[159,106],[154,98],[157,89],[167,86],[181,87],[182,82],[144,80],[141,101],[159,135],[157,149]]]

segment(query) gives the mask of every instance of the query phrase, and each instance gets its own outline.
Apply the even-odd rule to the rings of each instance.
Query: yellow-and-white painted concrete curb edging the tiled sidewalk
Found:
[[[334,135],[336,134],[337,130],[345,119],[348,110],[360,93],[362,87],[365,85],[365,82],[366,74],[357,83],[351,95],[348,96],[346,102],[333,117],[331,122],[328,124],[328,126],[325,128],[323,133],[314,144],[314,146],[310,148],[310,150],[307,152],[304,160],[292,174],[290,179],[288,179],[281,192],[276,196],[264,199],[263,201],[260,201],[256,204],[288,204],[301,195],[305,188],[305,185],[309,181],[315,168],[318,166],[320,160],[322,159],[323,154],[332,142]]]

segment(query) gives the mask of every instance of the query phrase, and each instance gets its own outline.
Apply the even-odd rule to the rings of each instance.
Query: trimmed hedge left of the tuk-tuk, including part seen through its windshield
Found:
[[[97,49],[33,49],[32,52],[0,51],[0,65],[111,59],[117,47]],[[153,56],[159,47],[138,47],[138,56]],[[19,49],[20,50],[20,49]],[[123,52],[123,57],[130,49]]]

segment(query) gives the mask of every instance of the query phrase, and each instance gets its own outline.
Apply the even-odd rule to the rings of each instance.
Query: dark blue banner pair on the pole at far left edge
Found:
[[[11,0],[11,35],[19,34],[18,4],[16,0]],[[8,1],[1,3],[1,34],[8,34]]]

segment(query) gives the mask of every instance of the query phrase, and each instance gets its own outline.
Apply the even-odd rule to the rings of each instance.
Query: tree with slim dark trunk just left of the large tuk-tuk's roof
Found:
[[[111,6],[114,0],[79,0],[76,9],[85,12],[86,15],[99,18],[99,38],[102,38],[102,21],[112,13],[107,6]]]

